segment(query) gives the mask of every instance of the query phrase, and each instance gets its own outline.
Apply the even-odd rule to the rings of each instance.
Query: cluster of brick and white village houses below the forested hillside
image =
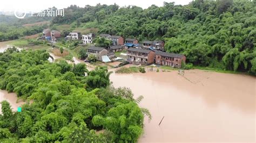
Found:
[[[49,29],[43,31],[45,39],[56,40],[60,37],[59,31],[50,31]],[[87,55],[95,55],[97,60],[109,62],[110,59],[115,58],[115,52],[127,51],[127,61],[136,65],[164,65],[170,67],[181,68],[181,63],[186,61],[186,56],[175,53],[167,53],[164,51],[164,41],[143,41],[139,44],[137,39],[124,38],[119,35],[99,34],[99,37],[109,39],[112,41],[112,46],[87,48]],[[96,38],[94,33],[81,35],[79,32],[70,32],[66,40],[82,40],[83,44],[92,44],[92,40]]]

